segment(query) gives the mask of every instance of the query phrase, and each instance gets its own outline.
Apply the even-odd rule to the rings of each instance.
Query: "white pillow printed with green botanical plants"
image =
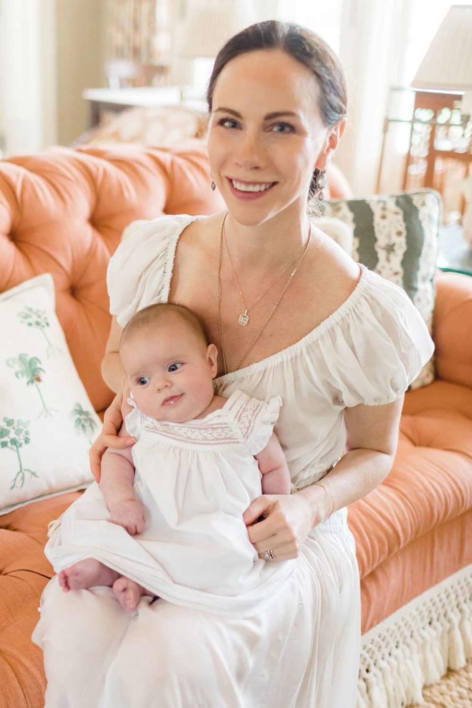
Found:
[[[0,514],[92,481],[100,420],[54,311],[49,273],[0,294]]]

